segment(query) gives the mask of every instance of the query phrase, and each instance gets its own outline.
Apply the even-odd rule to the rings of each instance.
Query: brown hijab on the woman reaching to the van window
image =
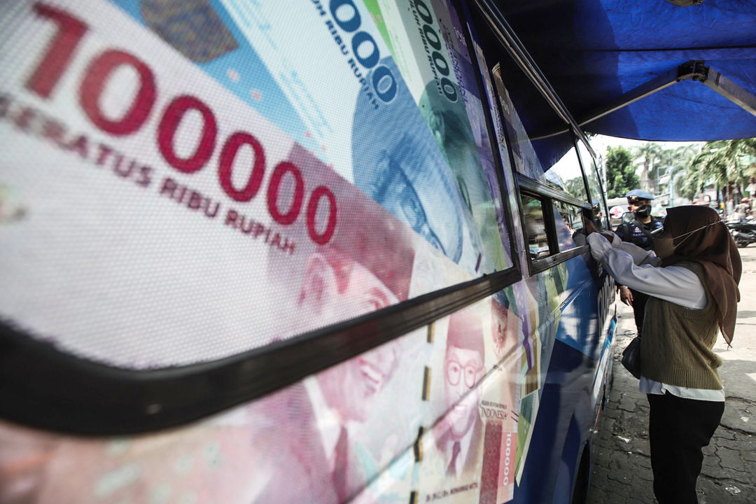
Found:
[[[738,284],[742,271],[735,240],[717,212],[708,206],[676,206],[667,209],[664,227],[665,233],[670,233],[673,237],[704,227],[687,237],[674,240],[677,245],[674,255],[665,258],[662,266],[670,266],[679,261],[696,261],[703,266],[706,286],[717,302],[719,328],[729,345],[733,341],[738,315]]]

